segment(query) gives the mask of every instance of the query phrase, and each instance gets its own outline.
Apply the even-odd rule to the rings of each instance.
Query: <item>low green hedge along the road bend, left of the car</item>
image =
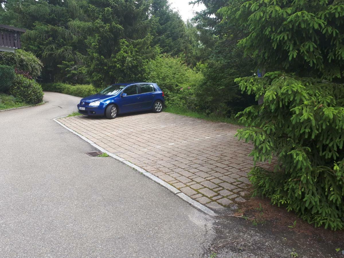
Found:
[[[77,97],[87,97],[89,95],[95,94],[96,89],[89,84],[66,84],[66,83],[44,83],[42,88],[48,92],[59,92],[63,94],[73,95]]]

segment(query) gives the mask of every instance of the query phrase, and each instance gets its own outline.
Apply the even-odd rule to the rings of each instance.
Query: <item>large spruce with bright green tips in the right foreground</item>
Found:
[[[266,71],[236,79],[262,102],[238,114],[250,126],[239,139],[254,142],[256,162],[275,164],[252,169],[255,194],[344,228],[344,2],[239,0],[219,13],[248,32],[239,46]]]

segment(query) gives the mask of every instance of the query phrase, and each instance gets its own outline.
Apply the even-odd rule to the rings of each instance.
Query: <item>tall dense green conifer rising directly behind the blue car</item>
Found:
[[[85,60],[94,86],[142,79],[145,64],[159,52],[151,46],[150,7],[147,0],[90,0],[93,33],[86,40]]]

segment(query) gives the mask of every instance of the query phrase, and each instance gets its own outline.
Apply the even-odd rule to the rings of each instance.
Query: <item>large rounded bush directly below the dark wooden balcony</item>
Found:
[[[8,65],[32,77],[41,75],[43,64],[31,52],[17,49],[14,53],[0,52],[0,65]]]

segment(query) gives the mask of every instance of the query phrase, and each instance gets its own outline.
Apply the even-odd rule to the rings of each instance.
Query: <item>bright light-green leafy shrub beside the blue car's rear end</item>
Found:
[[[181,58],[159,56],[150,61],[144,78],[157,83],[165,94],[166,104],[184,109],[196,109],[194,92],[203,82],[203,74],[188,67]]]

